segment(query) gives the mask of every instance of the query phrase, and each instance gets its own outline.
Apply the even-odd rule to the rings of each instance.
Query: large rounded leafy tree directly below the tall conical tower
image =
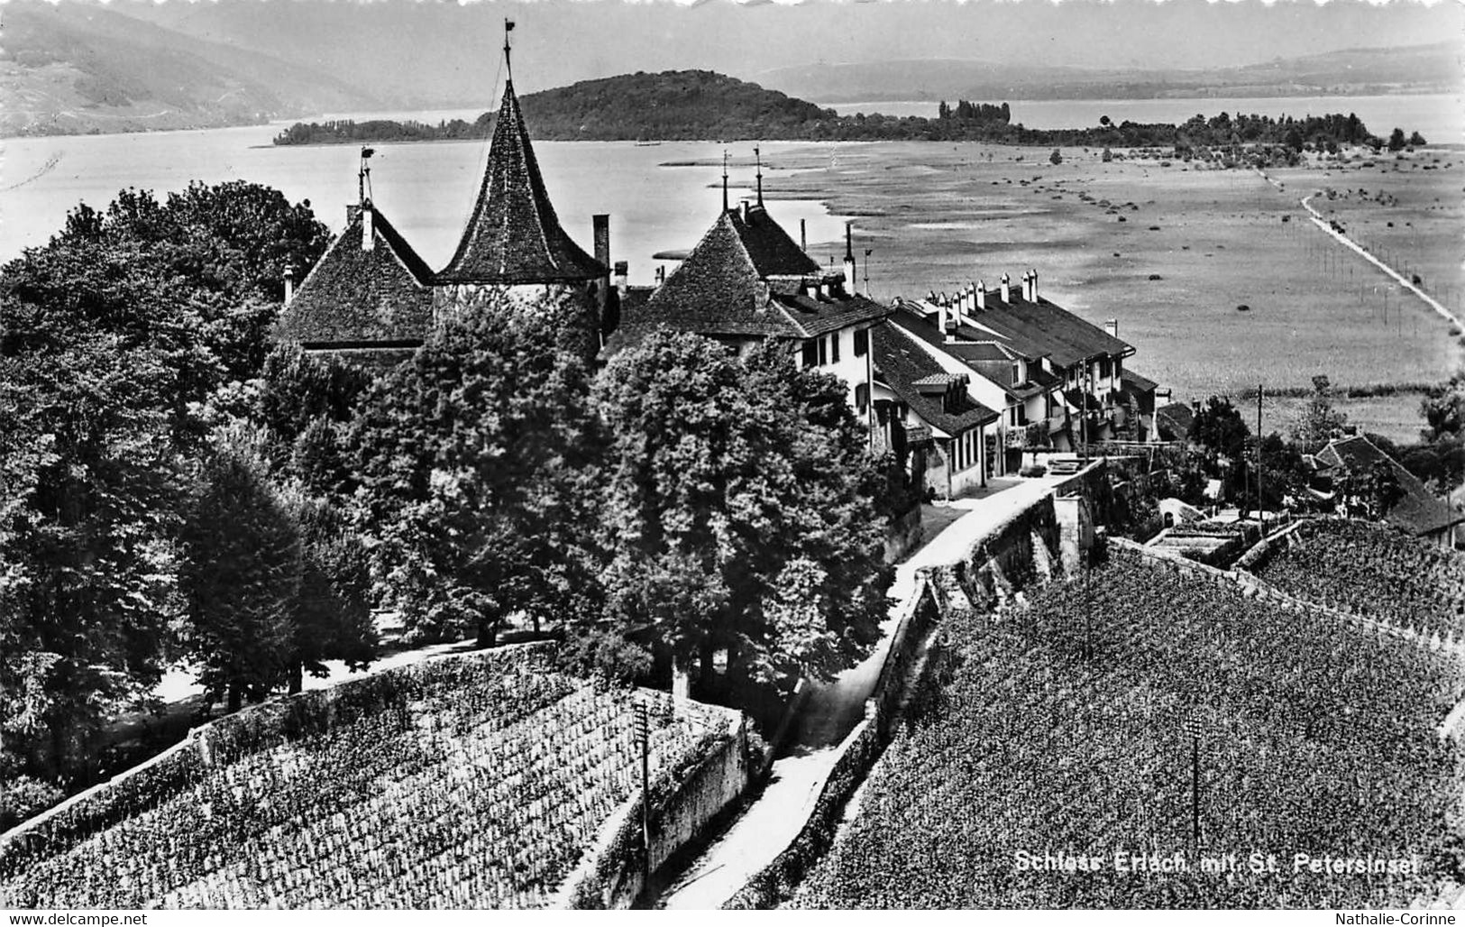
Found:
[[[347,439],[374,599],[419,639],[495,640],[596,595],[599,425],[589,376],[545,313],[483,303],[435,332],[362,400]]]

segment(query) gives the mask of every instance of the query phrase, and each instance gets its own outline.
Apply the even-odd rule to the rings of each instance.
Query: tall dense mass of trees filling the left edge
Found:
[[[100,728],[177,656],[220,395],[258,373],[284,267],[325,243],[256,185],[123,190],[0,271],[0,804],[26,773],[85,782]]]

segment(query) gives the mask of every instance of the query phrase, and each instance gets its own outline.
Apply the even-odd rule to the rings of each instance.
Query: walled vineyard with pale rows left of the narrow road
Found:
[[[347,693],[316,731],[182,751],[0,844],[0,906],[542,906],[639,786],[634,700],[653,776],[727,726],[536,665],[418,677]]]

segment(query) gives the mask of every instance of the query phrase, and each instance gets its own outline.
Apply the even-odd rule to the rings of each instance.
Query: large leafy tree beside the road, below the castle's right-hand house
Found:
[[[658,332],[596,379],[609,426],[607,608],[675,674],[828,678],[879,637],[885,474],[832,378]]]

